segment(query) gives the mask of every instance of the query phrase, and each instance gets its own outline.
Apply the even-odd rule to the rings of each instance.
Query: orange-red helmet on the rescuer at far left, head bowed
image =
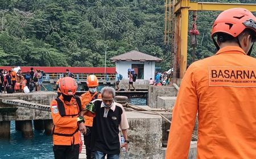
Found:
[[[61,93],[65,95],[74,95],[77,90],[77,83],[71,77],[64,77],[60,79],[59,88]]]

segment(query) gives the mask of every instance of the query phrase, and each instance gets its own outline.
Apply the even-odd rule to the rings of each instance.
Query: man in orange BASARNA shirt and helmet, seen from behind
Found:
[[[215,56],[191,64],[174,106],[166,158],[188,157],[198,112],[197,158],[256,158],[256,18],[246,9],[218,15]]]

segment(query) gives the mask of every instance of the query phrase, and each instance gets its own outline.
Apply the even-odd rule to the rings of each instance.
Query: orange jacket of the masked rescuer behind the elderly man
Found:
[[[100,93],[98,94],[97,91],[93,95],[90,94],[90,91],[87,91],[86,93],[82,94],[81,95],[82,106],[86,106],[86,104],[88,104],[90,101],[93,101],[94,97],[96,97],[97,95],[98,95],[97,99],[101,99],[101,94]],[[93,125],[93,117],[85,115],[84,119],[85,119],[85,126],[86,127],[92,127],[92,125]]]

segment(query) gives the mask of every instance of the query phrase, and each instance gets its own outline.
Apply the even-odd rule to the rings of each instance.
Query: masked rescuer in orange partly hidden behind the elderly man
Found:
[[[101,99],[101,94],[97,92],[97,86],[98,86],[98,78],[94,75],[90,75],[87,78],[87,86],[89,87],[89,91],[81,95],[82,98],[82,106],[86,106],[90,101],[93,101],[95,99]],[[86,136],[84,136],[84,143],[86,148],[86,158],[94,158],[93,155],[91,155],[91,149],[90,149],[90,143],[92,138],[92,125],[93,125],[93,117],[90,116],[84,116],[85,118],[85,126],[87,128]]]

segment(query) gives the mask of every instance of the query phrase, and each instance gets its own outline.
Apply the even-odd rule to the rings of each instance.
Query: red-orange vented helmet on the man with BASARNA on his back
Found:
[[[253,30],[256,34],[255,16],[246,9],[228,9],[218,15],[213,23],[211,36],[213,37],[218,32],[223,32],[233,37],[237,37],[246,28]]]

